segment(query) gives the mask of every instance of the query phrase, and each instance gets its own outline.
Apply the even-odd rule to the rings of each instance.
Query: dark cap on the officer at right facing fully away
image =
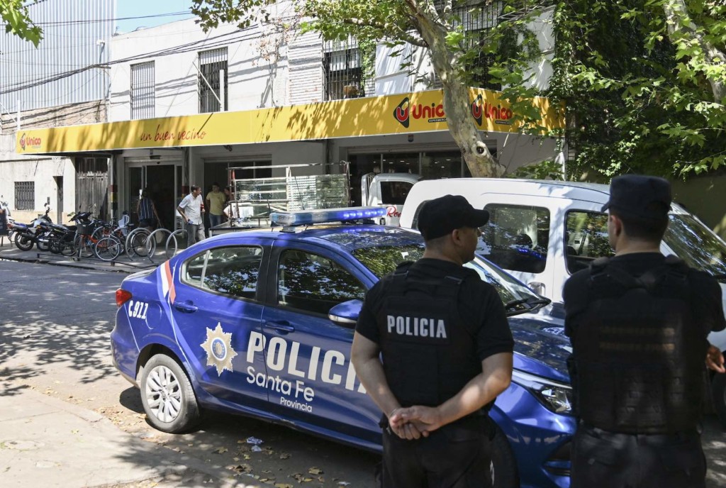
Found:
[[[671,184],[657,176],[626,174],[616,176],[610,184],[610,200],[603,212],[611,209],[622,216],[662,220],[671,208]]]

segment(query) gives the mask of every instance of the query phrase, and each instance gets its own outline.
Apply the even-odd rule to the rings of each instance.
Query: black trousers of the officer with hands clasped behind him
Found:
[[[468,418],[407,441],[383,429],[383,488],[491,488],[489,419]]]

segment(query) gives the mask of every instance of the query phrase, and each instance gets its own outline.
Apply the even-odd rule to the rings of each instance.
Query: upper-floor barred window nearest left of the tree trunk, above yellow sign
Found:
[[[365,96],[362,54],[353,37],[326,41],[322,66],[326,100]]]

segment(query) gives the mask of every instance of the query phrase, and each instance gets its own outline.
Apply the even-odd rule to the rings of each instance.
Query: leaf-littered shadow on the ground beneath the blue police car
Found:
[[[266,480],[264,486],[297,486],[303,479],[311,488],[376,486],[379,454],[263,420],[205,410],[202,423],[187,434],[164,434],[148,423],[139,434],[150,445],[166,447],[165,457],[179,456],[190,466],[202,461],[242,482],[253,476]],[[121,458],[142,466],[155,463],[144,452],[128,452]],[[319,474],[311,476],[311,471]]]

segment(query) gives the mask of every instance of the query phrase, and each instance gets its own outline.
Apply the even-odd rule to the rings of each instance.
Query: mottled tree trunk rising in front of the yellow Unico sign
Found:
[[[428,44],[433,70],[444,86],[446,123],[449,124],[449,132],[454,142],[461,149],[462,158],[471,176],[490,178],[502,176],[505,173],[504,166],[492,157],[474,123],[470,112],[468,87],[454,75],[457,57],[446,45],[446,31],[437,23],[438,15],[433,9],[433,2],[407,0],[407,5],[412,11],[417,30]]]

